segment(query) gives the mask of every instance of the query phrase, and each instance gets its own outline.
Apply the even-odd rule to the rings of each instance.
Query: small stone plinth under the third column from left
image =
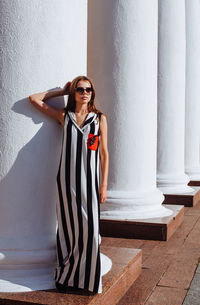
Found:
[[[200,201],[200,187],[192,187],[193,191],[182,194],[164,194],[164,204],[181,204],[185,207],[194,207]]]

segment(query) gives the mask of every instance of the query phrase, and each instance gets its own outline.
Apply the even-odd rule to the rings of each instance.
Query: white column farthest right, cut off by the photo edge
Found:
[[[186,0],[185,171],[200,180],[200,2]]]

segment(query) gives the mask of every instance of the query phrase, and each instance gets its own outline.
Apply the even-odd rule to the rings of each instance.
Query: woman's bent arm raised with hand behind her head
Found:
[[[58,120],[61,123],[61,125],[64,126],[65,110],[52,107],[46,104],[44,101],[52,97],[63,96],[65,94],[68,94],[69,86],[70,86],[70,82],[68,82],[62,89],[56,89],[56,90],[32,94],[29,96],[29,100],[31,104],[34,105],[38,110]]]

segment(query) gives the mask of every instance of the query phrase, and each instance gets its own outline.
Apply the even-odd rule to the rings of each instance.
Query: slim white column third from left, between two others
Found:
[[[160,0],[158,33],[158,187],[191,192],[184,173],[185,2]]]

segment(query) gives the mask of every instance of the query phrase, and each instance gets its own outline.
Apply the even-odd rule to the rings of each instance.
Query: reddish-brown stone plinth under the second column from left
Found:
[[[100,234],[107,237],[167,241],[184,219],[184,207],[167,205],[170,216],[140,220],[100,220]]]

